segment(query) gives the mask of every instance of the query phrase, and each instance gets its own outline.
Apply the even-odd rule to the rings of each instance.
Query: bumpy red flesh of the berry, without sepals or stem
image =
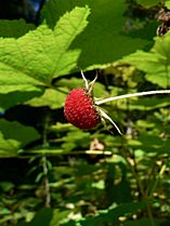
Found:
[[[101,122],[93,98],[84,89],[71,90],[65,102],[66,119],[77,128],[89,130]]]

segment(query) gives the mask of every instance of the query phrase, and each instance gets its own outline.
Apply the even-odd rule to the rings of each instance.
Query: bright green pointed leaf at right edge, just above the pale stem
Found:
[[[170,85],[170,32],[155,39],[149,52],[136,51],[123,57],[123,62],[146,72],[146,80],[161,88]]]

